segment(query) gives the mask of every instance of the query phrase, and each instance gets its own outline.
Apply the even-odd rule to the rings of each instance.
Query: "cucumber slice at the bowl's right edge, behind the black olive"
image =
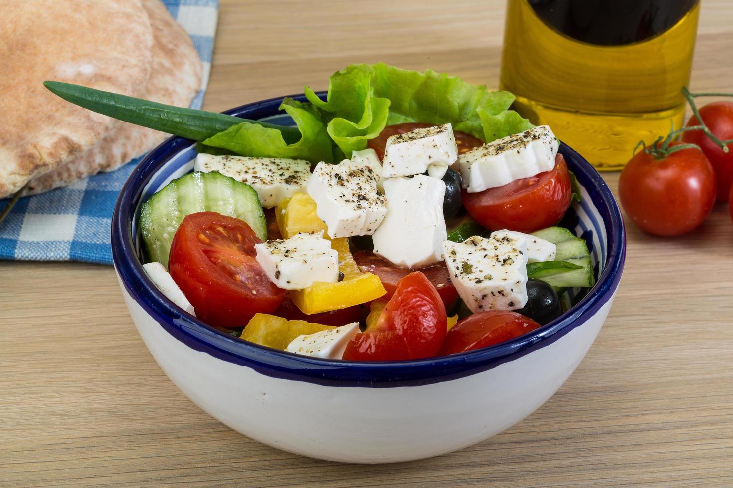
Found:
[[[567,261],[581,266],[581,269],[557,269],[556,273],[542,277],[538,276],[537,279],[542,279],[542,281],[556,289],[592,287],[595,285],[591,253],[585,239],[576,237],[570,230],[563,227],[548,227],[537,230],[532,235],[540,239],[546,239],[557,246],[555,260]]]

